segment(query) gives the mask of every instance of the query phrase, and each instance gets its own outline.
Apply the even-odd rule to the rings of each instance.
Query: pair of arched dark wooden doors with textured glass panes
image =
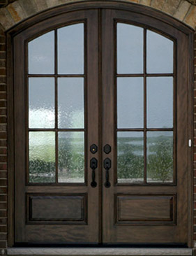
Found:
[[[15,36],[16,244],[187,243],[186,40],[114,9]]]

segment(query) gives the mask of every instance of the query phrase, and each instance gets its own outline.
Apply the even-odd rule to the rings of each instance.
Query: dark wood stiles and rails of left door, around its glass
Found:
[[[85,51],[85,73],[88,76],[85,76],[86,78],[84,79],[86,134],[85,183],[53,183],[51,185],[44,183],[28,184],[25,180],[24,175],[25,171],[27,171],[28,169],[28,136],[25,137],[24,134],[26,131],[27,134],[29,132],[26,115],[28,110],[28,104],[25,104],[25,101],[27,102],[27,79],[24,80],[25,56],[27,59],[27,55],[25,55],[26,52],[24,45],[26,45],[27,48],[27,43],[32,38],[35,38],[36,36],[39,36],[40,34],[43,34],[50,29],[63,27],[67,24],[74,24],[75,22],[84,22],[87,27],[85,29],[85,45],[87,45]],[[92,145],[93,143],[98,145],[97,28],[98,10],[77,11],[75,13],[66,13],[57,17],[52,17],[50,20],[44,20],[40,24],[29,27],[29,29],[22,31],[14,38],[14,99],[16,103],[15,243],[98,243],[99,187],[97,186],[94,188],[90,185],[91,169],[89,166],[89,162],[92,157],[92,154],[89,152],[90,145]],[[55,79],[57,79],[57,74],[55,74],[54,76],[56,76]],[[57,94],[55,99],[55,106],[57,109]],[[91,109],[93,109],[94,111],[91,111]],[[56,125],[54,131],[56,131],[57,135],[57,131],[59,131],[59,129],[57,129],[57,118],[55,119],[55,121]],[[71,131],[73,129],[68,130]],[[82,130],[84,131],[84,129]],[[40,131],[40,129],[35,129],[35,131]],[[96,152],[96,157],[98,157],[98,155],[99,152]],[[98,177],[98,169],[96,169],[97,183],[99,179]],[[33,190],[33,196],[28,196],[29,190]],[[40,193],[42,194],[42,196],[40,196]],[[64,193],[68,194],[68,196],[63,196]],[[48,197],[48,194],[50,194],[50,198]],[[80,194],[83,194],[83,196]],[[40,199],[40,197],[42,197],[42,199]],[[59,199],[59,197],[61,197],[61,199]],[[63,205],[61,205],[60,202]],[[57,211],[58,213],[55,213],[55,211]],[[49,219],[54,218],[55,214],[55,222],[50,222]],[[61,219],[61,222],[58,222],[57,219],[59,218]]]

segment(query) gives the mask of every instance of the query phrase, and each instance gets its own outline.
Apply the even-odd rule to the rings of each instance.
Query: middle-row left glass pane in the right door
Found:
[[[117,127],[144,127],[143,78],[117,79]]]

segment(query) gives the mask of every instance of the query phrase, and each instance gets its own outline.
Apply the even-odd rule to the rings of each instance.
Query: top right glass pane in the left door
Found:
[[[58,73],[84,73],[84,24],[58,29]]]

